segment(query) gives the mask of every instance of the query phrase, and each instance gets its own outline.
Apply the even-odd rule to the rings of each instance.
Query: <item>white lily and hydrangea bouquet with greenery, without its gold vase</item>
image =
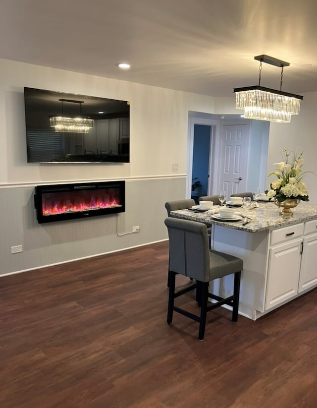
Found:
[[[283,150],[284,161],[274,163],[278,170],[268,175],[268,177],[275,175],[277,179],[270,183],[270,190],[265,190],[267,197],[274,198],[279,203],[287,198],[309,201],[308,187],[303,182],[303,178],[310,172],[302,172],[305,163],[302,155],[303,152],[297,155],[292,151]]]

